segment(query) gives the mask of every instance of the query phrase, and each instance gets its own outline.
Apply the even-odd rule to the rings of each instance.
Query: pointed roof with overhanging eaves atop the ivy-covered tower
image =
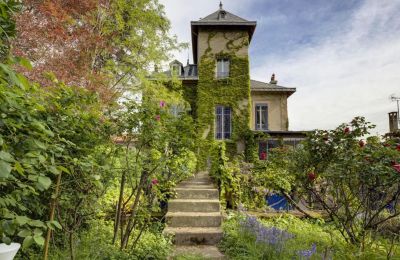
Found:
[[[199,21],[192,21],[192,49],[193,49],[193,60],[197,63],[197,35],[199,32],[199,27],[223,27],[223,28],[238,28],[241,30],[246,30],[249,34],[249,42],[251,42],[251,38],[253,37],[254,31],[257,26],[256,21],[248,21],[244,18],[241,18],[235,14],[232,14],[228,11],[225,11],[222,8],[222,3],[219,6],[219,10],[214,13],[206,16]]]

